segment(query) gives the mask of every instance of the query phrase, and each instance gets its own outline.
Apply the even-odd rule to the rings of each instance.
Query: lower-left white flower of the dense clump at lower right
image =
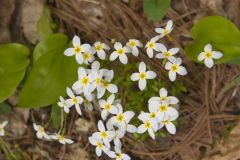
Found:
[[[158,123],[155,119],[149,119],[148,116],[146,116],[146,114],[144,114],[144,112],[142,112],[138,118],[143,122],[143,124],[141,124],[138,127],[137,133],[144,133],[146,131],[148,131],[149,135],[152,137],[152,139],[155,139],[155,132],[158,130]]]

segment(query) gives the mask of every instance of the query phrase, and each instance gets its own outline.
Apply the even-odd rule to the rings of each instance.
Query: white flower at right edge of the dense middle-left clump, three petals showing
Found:
[[[106,90],[108,90],[110,93],[115,94],[118,92],[118,88],[115,84],[110,83],[113,79],[114,72],[113,70],[106,71],[104,73],[104,79],[101,81],[101,85],[97,87],[97,97],[98,99],[101,98]]]

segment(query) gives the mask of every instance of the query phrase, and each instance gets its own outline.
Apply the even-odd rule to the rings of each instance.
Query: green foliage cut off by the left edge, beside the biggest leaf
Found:
[[[20,44],[0,45],[0,102],[11,96],[25,75],[29,50]]]

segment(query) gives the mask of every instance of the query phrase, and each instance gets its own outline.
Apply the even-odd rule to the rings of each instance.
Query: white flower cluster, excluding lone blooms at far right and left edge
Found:
[[[169,70],[169,78],[171,81],[176,79],[176,74],[186,75],[186,69],[181,66],[182,59],[176,58],[175,55],[179,52],[178,48],[167,49],[162,43],[158,42],[160,38],[167,36],[173,30],[173,23],[169,21],[166,28],[156,28],[159,35],[153,37],[145,45],[146,52],[149,58],[154,56],[158,59],[163,59],[165,69]],[[97,102],[98,109],[101,110],[101,119],[98,121],[98,131],[89,137],[89,142],[96,147],[97,156],[102,153],[107,154],[110,158],[117,160],[131,159],[127,154],[122,152],[121,139],[127,133],[144,133],[148,131],[149,135],[154,139],[155,132],[162,127],[166,127],[167,131],[175,134],[176,128],[173,121],[179,116],[175,109],[179,100],[173,96],[167,96],[167,90],[161,88],[159,91],[160,97],[152,97],[149,99],[149,112],[141,112],[138,116],[143,122],[136,127],[130,124],[134,117],[133,111],[124,111],[121,101],[116,99],[115,94],[118,88],[112,83],[114,71],[103,69],[100,63],[96,61],[96,56],[105,60],[107,58],[106,51],[110,51],[110,47],[102,42],[90,44],[82,44],[78,36],[74,36],[72,40],[73,47],[65,50],[66,56],[75,56],[76,61],[81,66],[78,68],[78,79],[71,86],[66,88],[68,97],[60,96],[58,106],[64,112],[69,113],[74,107],[79,115],[82,115],[82,107],[93,110],[93,102]],[[143,44],[137,39],[130,39],[125,45],[120,42],[114,43],[114,51],[109,56],[110,61],[119,59],[122,64],[128,63],[128,54],[138,56],[140,48]],[[155,55],[155,51],[158,53]],[[95,56],[96,55],[96,56]],[[87,67],[83,67],[85,64]],[[154,71],[148,70],[144,62],[139,63],[139,72],[131,75],[132,81],[138,81],[140,90],[144,90],[147,85],[147,79],[154,79],[157,74]],[[110,96],[106,99],[105,93],[109,92]],[[94,103],[95,104],[95,103]],[[71,139],[65,138],[60,130],[58,134],[48,135],[45,132],[45,127],[33,124],[36,130],[36,136],[39,139],[58,140],[61,144],[71,144]],[[112,147],[114,145],[114,147]]]

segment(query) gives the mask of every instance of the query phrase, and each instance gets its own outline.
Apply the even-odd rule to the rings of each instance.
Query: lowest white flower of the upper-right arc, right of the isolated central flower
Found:
[[[169,70],[168,76],[171,81],[174,81],[176,79],[176,74],[182,76],[187,74],[186,68],[181,66],[181,64],[182,64],[181,58],[176,58],[172,62],[167,62],[165,64],[165,69]]]

